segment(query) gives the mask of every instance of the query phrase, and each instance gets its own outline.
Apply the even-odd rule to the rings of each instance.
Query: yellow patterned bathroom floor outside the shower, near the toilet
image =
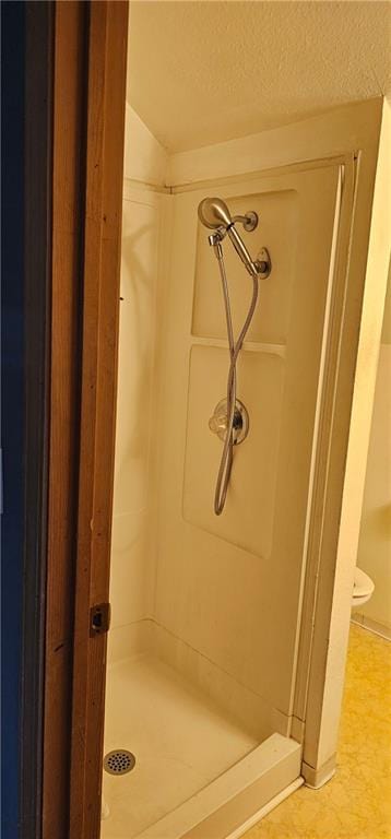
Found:
[[[352,624],[337,772],[301,787],[244,839],[390,839],[391,643]]]

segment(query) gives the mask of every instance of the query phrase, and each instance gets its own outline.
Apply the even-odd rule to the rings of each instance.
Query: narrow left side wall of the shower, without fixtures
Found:
[[[109,650],[126,654],[153,596],[152,424],[162,196],[125,185]]]

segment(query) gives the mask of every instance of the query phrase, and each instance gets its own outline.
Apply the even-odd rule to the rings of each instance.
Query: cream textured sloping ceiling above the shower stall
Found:
[[[389,94],[388,2],[130,4],[128,102],[171,152]]]

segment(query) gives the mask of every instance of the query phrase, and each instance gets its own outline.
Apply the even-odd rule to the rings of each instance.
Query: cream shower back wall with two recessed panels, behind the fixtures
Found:
[[[258,704],[268,721],[259,724],[262,736],[273,729],[287,733],[292,713],[340,188],[341,169],[330,165],[216,182],[174,197],[154,618],[166,634],[163,646],[171,648],[177,663],[187,662],[204,687],[209,682],[212,690],[220,681],[236,702],[242,696],[252,698],[252,708]],[[250,433],[235,450],[220,519],[212,505],[222,442],[208,420],[225,395],[229,356],[218,270],[197,218],[206,194],[220,194],[235,213],[259,212],[259,228],[247,244],[253,255],[266,246],[273,264],[271,276],[261,281],[257,318],[239,363],[238,398],[249,410]],[[228,241],[224,248],[237,329],[250,280]],[[247,702],[245,714],[248,709]]]

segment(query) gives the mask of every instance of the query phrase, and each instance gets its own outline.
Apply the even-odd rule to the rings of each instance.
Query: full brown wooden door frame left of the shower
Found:
[[[98,839],[128,0],[55,3],[43,839]]]

